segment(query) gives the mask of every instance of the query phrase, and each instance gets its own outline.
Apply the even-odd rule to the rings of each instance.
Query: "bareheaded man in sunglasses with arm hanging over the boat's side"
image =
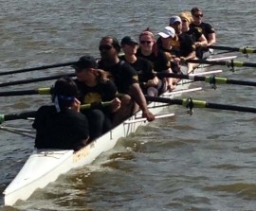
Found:
[[[101,52],[99,68],[109,72],[118,87],[119,94],[124,94],[120,97],[121,106],[114,114],[113,124],[117,126],[127,117],[135,114],[138,110],[137,106],[142,110],[143,117],[153,121],[155,115],[147,107],[147,101],[138,84],[136,70],[127,62],[119,60],[120,45],[117,38],[103,37],[99,50]]]

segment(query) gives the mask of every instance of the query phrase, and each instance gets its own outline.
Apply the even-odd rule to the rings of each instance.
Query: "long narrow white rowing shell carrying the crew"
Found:
[[[204,68],[199,67],[197,68],[198,71],[204,72]],[[163,96],[172,98],[182,95],[191,84],[187,81],[181,80],[172,95]],[[161,105],[164,103],[150,103],[150,111],[153,114],[159,114],[163,110]],[[141,118],[140,111],[78,151],[72,149],[35,149],[28,157],[24,167],[3,192],[5,205],[13,205],[18,200],[25,201],[36,189],[44,188],[57,180],[61,174],[72,168],[91,164],[102,152],[113,149],[120,137],[127,137],[131,132],[136,132],[139,126],[146,124],[148,122]]]

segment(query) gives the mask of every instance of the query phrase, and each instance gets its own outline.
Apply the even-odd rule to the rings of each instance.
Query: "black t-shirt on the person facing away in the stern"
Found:
[[[38,149],[76,149],[89,136],[86,116],[71,109],[57,113],[55,106],[42,106],[32,127]]]

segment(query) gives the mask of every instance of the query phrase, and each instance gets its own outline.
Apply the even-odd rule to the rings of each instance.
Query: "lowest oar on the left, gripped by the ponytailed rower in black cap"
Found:
[[[106,102],[101,102],[100,106],[108,106],[111,104],[111,101],[106,101]],[[81,105],[81,110],[86,110],[93,108],[95,106],[94,103],[92,104],[83,104]],[[99,105],[96,105],[99,106]],[[36,111],[30,111],[30,112],[24,112],[24,113],[19,113],[19,114],[0,114],[0,124],[3,123],[4,121],[9,121],[9,120],[16,120],[16,119],[27,119],[31,117],[35,117]]]

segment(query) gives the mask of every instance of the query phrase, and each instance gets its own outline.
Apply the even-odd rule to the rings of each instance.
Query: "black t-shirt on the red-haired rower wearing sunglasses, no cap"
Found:
[[[136,56],[152,62],[155,72],[163,72],[170,68],[170,62],[168,61],[165,53],[160,49],[157,50],[156,55],[155,52],[152,52],[151,55],[145,56],[141,53],[141,49],[138,48]]]

